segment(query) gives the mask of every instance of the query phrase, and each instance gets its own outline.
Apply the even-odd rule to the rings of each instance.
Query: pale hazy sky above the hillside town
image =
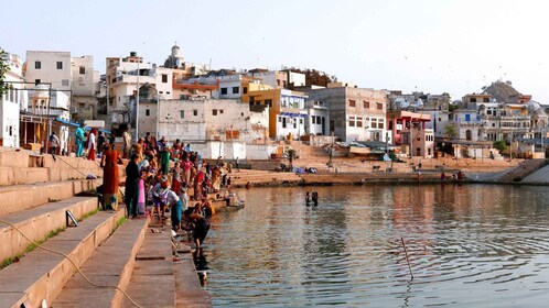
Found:
[[[24,4],[22,4],[24,3]],[[177,42],[213,68],[316,68],[375,89],[448,91],[497,79],[549,103],[549,1],[2,1],[0,47],[163,64]]]

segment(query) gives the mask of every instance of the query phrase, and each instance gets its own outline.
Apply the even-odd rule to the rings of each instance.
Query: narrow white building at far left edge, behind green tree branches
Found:
[[[19,147],[20,132],[20,111],[26,111],[29,98],[24,90],[23,79],[23,61],[14,54],[7,54],[4,59],[10,69],[4,76],[4,81],[11,85],[11,88],[2,97],[0,106],[0,146]]]

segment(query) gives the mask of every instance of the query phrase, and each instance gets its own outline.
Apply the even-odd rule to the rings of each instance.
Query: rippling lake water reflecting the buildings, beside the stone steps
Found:
[[[305,207],[305,191],[320,195]],[[198,266],[215,307],[548,307],[549,187],[238,190]],[[408,250],[410,270],[402,248]]]

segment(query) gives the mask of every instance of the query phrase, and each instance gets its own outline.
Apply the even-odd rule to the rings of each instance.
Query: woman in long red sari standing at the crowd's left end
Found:
[[[118,163],[122,163],[120,154],[107,143],[104,147],[104,155],[101,157],[103,167],[103,189],[105,208],[108,210],[116,210],[118,208]]]

